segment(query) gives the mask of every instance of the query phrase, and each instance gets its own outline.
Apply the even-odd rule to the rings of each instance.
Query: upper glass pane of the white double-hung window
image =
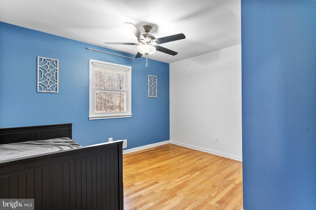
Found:
[[[124,72],[114,72],[95,68],[94,88],[104,90],[125,90]]]

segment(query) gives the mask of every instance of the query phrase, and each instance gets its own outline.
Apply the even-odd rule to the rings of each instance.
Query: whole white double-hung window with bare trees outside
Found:
[[[89,120],[132,117],[131,66],[90,60],[89,71]]]

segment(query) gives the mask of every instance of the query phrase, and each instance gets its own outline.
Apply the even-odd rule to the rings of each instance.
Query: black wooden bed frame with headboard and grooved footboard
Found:
[[[0,144],[72,138],[72,124],[1,128]],[[0,199],[35,199],[36,210],[122,210],[122,142],[0,162]]]

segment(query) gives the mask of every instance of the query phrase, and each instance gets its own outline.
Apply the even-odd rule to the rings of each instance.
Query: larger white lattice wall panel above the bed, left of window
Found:
[[[38,57],[38,92],[58,92],[58,60]]]

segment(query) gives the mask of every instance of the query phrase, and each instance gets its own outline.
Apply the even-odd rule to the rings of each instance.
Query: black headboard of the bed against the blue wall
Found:
[[[60,137],[72,138],[72,124],[0,128],[0,144]]]

